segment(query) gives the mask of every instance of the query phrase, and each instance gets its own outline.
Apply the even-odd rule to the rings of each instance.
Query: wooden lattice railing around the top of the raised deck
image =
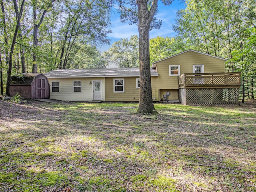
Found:
[[[240,73],[189,73],[178,77],[180,87],[240,86]]]

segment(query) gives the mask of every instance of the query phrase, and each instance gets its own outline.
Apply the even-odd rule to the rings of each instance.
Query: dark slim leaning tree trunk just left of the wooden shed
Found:
[[[17,38],[17,34],[18,34],[18,29],[19,29],[22,12],[23,12],[24,2],[25,2],[25,0],[22,0],[21,6],[20,6],[20,12],[18,14],[18,19],[17,19],[17,23],[16,23],[16,28],[15,28],[13,38],[12,38],[12,45],[11,45],[10,53],[9,53],[9,64],[8,64],[6,91],[5,91],[6,96],[10,96],[10,83],[11,83],[11,74],[12,74],[12,54],[14,51],[14,46],[15,46],[15,42],[16,42],[16,38]]]

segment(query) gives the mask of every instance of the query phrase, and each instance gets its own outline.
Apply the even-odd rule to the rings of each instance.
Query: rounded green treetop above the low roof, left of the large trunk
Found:
[[[109,65],[118,67],[139,66],[139,38],[134,35],[130,40],[127,38],[114,42],[110,49],[103,53]]]

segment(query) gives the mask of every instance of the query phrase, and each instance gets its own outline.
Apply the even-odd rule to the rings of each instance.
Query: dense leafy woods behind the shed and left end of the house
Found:
[[[0,3],[0,55],[2,84],[5,84],[7,70],[4,69],[9,63],[21,1],[1,0]],[[110,4],[104,0],[26,0],[9,71],[14,74],[105,67],[96,45],[109,42],[109,14]]]

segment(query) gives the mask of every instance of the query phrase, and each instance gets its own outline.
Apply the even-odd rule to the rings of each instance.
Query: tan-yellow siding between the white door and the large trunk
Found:
[[[118,79],[118,77],[106,77],[105,101],[138,102],[140,100],[140,89],[136,88],[136,78],[138,77],[119,77],[119,79],[124,79],[124,93],[114,93],[114,79]]]

